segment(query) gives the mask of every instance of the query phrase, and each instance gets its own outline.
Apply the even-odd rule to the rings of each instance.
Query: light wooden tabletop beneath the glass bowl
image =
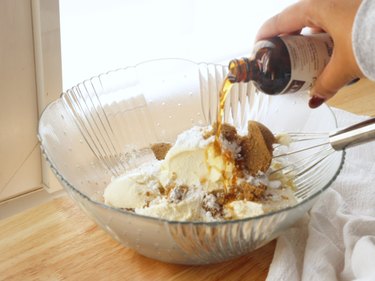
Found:
[[[330,104],[375,116],[375,84],[346,87]],[[264,280],[275,245],[220,264],[165,264],[113,241],[64,195],[0,221],[0,280]]]

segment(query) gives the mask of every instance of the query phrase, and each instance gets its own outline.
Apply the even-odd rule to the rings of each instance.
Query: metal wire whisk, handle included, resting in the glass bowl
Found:
[[[346,148],[375,140],[375,118],[335,132],[297,132],[287,136],[290,137],[288,151],[283,151],[281,146],[275,147],[274,159],[280,161],[281,168],[273,173],[292,173],[297,186],[295,195],[303,200],[317,191],[316,186],[328,186],[335,179]],[[326,177],[327,174],[332,176]],[[327,181],[327,178],[331,179]]]

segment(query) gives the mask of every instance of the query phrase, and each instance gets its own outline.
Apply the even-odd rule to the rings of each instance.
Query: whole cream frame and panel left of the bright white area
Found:
[[[0,219],[50,198],[43,187],[61,188],[37,138],[41,112],[62,91],[58,8],[0,1]]]

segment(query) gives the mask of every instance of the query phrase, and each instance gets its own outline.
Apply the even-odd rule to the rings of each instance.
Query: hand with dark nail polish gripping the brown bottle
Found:
[[[256,39],[281,34],[327,32],[334,42],[331,59],[310,91],[309,106],[315,108],[356,78],[363,77],[352,47],[352,26],[361,0],[300,0],[267,20]]]

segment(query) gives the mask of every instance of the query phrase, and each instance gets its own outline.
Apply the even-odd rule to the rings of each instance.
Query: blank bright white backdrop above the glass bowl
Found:
[[[62,0],[64,89],[148,59],[223,62],[251,51],[260,24],[295,0]]]

